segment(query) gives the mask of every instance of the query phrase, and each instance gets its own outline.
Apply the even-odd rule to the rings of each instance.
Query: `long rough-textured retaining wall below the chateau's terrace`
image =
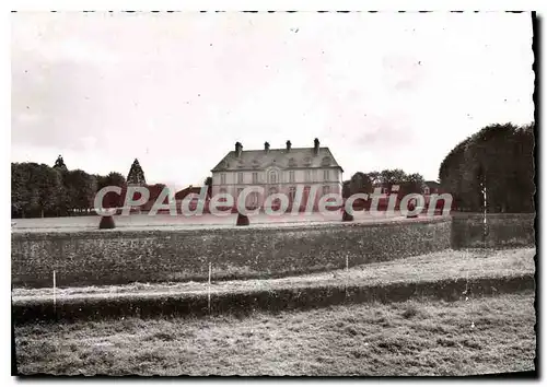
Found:
[[[446,249],[450,218],[284,227],[13,233],[12,284],[272,278]]]

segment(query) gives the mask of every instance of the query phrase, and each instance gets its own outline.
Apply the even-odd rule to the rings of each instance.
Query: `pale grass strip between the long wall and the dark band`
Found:
[[[244,292],[256,289],[276,290],[294,286],[375,285],[457,278],[522,275],[535,272],[534,256],[535,248],[445,250],[387,262],[361,265],[349,268],[349,270],[335,270],[270,280],[219,281],[212,283],[211,293]],[[56,295],[57,300],[60,301],[62,298],[130,296],[132,294],[151,293],[206,293],[207,291],[208,285],[203,282],[135,283],[116,286],[58,289]],[[50,298],[53,289],[14,289],[12,296],[14,302]]]

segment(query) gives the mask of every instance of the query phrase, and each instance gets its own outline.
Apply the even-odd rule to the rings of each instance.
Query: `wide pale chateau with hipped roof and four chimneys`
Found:
[[[212,196],[230,194],[235,199],[246,187],[263,187],[264,195],[251,192],[246,198],[246,206],[256,208],[264,204],[265,197],[277,192],[287,195],[291,206],[298,186],[303,187],[303,207],[313,187],[316,191],[315,204],[322,195],[341,195],[344,169],[330,150],[319,146],[319,140],[315,139],[312,148],[292,148],[287,141],[284,149],[270,149],[266,142],[264,150],[256,151],[244,151],[243,145],[236,142],[235,150],[228,153],[211,172]]]

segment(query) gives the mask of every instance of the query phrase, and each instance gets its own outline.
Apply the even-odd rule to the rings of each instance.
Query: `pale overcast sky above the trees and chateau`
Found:
[[[201,184],[234,148],[312,146],[437,179],[461,140],[533,120],[529,14],[12,14],[12,161]]]

